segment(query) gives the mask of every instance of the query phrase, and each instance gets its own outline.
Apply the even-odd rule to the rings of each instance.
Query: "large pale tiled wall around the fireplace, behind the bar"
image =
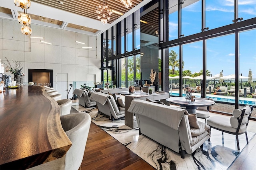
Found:
[[[100,36],[94,37],[31,24],[31,36],[44,37],[43,41],[53,44],[47,45],[40,42],[42,39],[30,39],[22,35],[21,26],[18,21],[0,19],[0,59],[5,62],[4,57],[7,57],[9,61],[21,61],[25,74],[24,82],[28,82],[28,69],[52,69],[54,87],[57,84],[57,73],[68,74],[68,84],[72,84],[73,81],[91,81],[88,80],[88,74],[96,74],[96,81],[101,81]],[[77,45],[76,40],[86,44]],[[93,47],[93,49],[82,49],[82,47]],[[8,73],[7,75],[12,75]],[[66,81],[66,78],[61,80],[61,82]]]

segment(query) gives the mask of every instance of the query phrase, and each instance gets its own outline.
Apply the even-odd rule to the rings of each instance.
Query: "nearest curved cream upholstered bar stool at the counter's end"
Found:
[[[63,130],[72,142],[72,146],[62,158],[46,162],[28,170],[80,169],[91,125],[91,117],[88,113],[79,112],[60,116],[60,121]]]

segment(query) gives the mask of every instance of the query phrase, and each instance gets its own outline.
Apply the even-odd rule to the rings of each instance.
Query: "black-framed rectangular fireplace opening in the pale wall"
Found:
[[[53,87],[53,70],[28,69],[28,82],[34,82],[38,86]]]

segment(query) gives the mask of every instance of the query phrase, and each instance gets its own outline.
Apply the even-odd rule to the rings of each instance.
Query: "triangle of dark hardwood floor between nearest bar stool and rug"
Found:
[[[154,170],[93,122],[81,164],[82,170]]]

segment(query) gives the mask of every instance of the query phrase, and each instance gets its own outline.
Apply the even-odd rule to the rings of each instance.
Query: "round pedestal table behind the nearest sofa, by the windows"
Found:
[[[214,101],[205,98],[195,98],[194,102],[191,102],[191,100],[185,97],[170,97],[166,99],[166,102],[179,105],[180,107],[186,107],[188,113],[196,113],[196,109],[200,106],[212,106],[215,104]]]

